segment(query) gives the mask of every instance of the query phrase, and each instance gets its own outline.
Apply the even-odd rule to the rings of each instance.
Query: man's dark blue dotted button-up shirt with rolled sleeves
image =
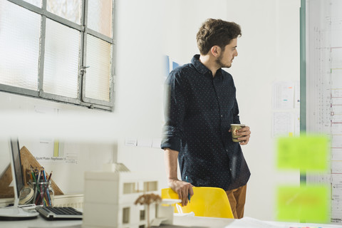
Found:
[[[177,150],[182,180],[197,187],[232,190],[247,184],[250,172],[231,123],[240,123],[232,76],[215,76],[199,61],[176,68],[166,81],[162,148]]]

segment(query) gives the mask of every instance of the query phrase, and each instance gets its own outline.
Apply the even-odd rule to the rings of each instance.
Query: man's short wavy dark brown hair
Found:
[[[241,36],[241,28],[238,24],[221,19],[207,19],[197,32],[199,53],[206,55],[215,45],[224,50],[224,47],[238,36]]]

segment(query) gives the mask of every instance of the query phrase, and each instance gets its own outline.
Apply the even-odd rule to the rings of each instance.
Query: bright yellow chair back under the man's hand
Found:
[[[192,187],[194,195],[187,206],[182,207],[183,213],[194,212],[199,217],[219,217],[234,219],[232,208],[226,192],[219,187]],[[179,199],[177,193],[171,188],[162,189],[162,199]],[[177,209],[175,208],[177,213]]]

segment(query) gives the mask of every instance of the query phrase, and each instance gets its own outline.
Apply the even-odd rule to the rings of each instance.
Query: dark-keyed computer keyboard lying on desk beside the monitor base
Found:
[[[44,219],[82,219],[83,213],[73,207],[36,207]]]

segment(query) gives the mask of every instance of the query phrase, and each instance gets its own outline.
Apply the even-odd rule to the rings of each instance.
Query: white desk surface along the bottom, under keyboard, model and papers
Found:
[[[289,228],[289,227],[323,227],[323,228],[341,228],[342,225],[332,224],[300,224],[294,222],[263,222],[261,220],[244,218],[240,220],[209,218],[209,217],[174,217],[174,225],[162,225],[160,228],[180,228],[180,227],[209,227],[209,228]],[[81,220],[71,221],[47,221],[38,216],[37,219],[24,221],[0,221],[1,228],[81,228]]]

